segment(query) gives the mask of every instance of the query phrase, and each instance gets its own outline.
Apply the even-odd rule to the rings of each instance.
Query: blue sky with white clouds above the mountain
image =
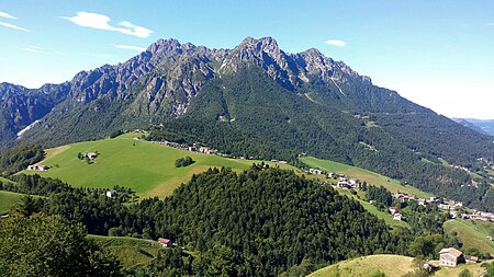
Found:
[[[492,0],[3,0],[0,82],[59,83],[158,38],[232,48],[247,36],[318,48],[446,116],[494,118]]]

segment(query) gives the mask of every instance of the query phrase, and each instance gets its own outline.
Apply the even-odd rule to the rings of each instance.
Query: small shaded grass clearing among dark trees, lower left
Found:
[[[159,251],[165,251],[158,242],[150,240],[93,234],[89,238],[100,246],[110,250],[125,268],[144,265],[156,258]]]

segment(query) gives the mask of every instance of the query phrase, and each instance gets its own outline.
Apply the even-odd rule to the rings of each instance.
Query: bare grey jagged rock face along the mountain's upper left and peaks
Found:
[[[372,85],[370,78],[314,48],[285,53],[272,37],[247,37],[233,49],[159,39],[123,64],[81,71],[63,84],[36,90],[1,84],[0,124],[4,131],[0,141],[13,141],[20,130],[35,120],[40,124],[23,135],[27,140],[47,131],[63,136],[59,126],[64,125],[65,129],[85,129],[80,134],[83,139],[87,132],[103,134],[122,125],[137,127],[176,118],[187,113],[207,82],[233,77],[240,68],[251,66],[259,67],[287,93],[306,94],[307,90],[314,91],[307,89],[311,85],[324,85],[327,89],[317,92],[321,99],[350,109],[372,108],[366,104],[371,101],[362,99],[375,99],[359,89]],[[394,97],[398,95],[395,93]]]

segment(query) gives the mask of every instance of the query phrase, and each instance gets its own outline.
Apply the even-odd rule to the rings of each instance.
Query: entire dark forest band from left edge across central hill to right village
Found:
[[[436,257],[445,245],[461,247],[445,234],[441,224],[448,217],[437,208],[403,207],[412,228],[391,230],[329,185],[262,164],[242,173],[209,170],[171,197],[139,203],[122,187],[106,197],[105,189],[74,188],[37,175],[20,174],[15,181],[1,188],[45,196],[23,198],[15,212],[24,217],[42,212],[70,226],[81,223],[92,234],[162,236],[178,243],[148,266],[125,272],[133,276],[292,276],[360,255]],[[389,204],[389,192],[368,186],[366,194]]]

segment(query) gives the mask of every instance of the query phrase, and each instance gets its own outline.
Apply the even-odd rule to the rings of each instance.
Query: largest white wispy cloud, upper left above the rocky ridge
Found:
[[[119,23],[119,26],[112,26],[110,25],[110,18],[99,13],[78,12],[75,16],[61,16],[61,19],[68,20],[82,27],[120,32],[122,34],[137,37],[148,37],[153,33],[149,28],[137,26],[128,21],[122,21]]]

